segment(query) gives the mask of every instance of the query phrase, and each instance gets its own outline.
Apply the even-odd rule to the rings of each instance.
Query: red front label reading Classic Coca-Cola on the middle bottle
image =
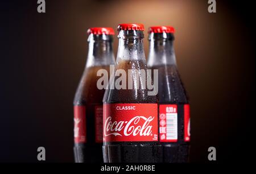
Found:
[[[103,105],[105,142],[158,141],[156,103],[118,103]]]

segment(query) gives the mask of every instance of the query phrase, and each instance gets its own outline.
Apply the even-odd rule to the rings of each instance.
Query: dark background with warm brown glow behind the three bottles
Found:
[[[247,161],[255,154],[255,28],[251,1],[0,1],[0,161],[73,161],[73,107],[88,27],[172,25],[191,98],[191,162]],[[148,41],[144,41],[146,56]],[[115,55],[118,40],[114,40]]]

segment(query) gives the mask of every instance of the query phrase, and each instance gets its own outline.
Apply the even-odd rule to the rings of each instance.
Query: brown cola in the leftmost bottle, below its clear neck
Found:
[[[79,87],[76,92],[74,105],[85,106],[86,119],[86,143],[75,143],[75,161],[76,162],[102,162],[102,115],[101,121],[98,122],[101,126],[96,127],[96,114],[102,114],[102,98],[104,89],[97,88],[97,71],[106,69],[109,72],[109,65],[100,67],[89,67],[81,78]],[[97,113],[96,113],[97,112]],[[96,134],[96,129],[97,133]],[[99,135],[100,134],[100,135]],[[101,142],[98,140],[101,139]]]

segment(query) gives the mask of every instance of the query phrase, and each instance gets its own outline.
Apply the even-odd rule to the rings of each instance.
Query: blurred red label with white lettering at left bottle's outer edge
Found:
[[[86,142],[85,106],[74,106],[74,140],[75,143]]]

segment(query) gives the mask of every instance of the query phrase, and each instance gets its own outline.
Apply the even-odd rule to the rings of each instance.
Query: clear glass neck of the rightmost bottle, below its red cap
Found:
[[[148,40],[150,41],[148,67],[176,65],[173,34],[151,33]]]

